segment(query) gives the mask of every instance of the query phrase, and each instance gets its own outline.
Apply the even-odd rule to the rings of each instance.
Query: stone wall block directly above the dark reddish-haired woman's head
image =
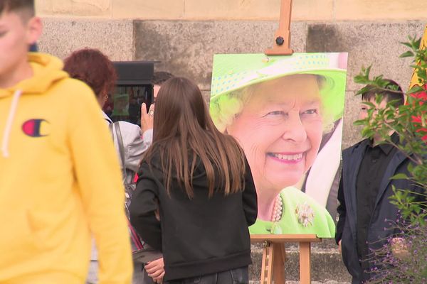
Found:
[[[111,60],[132,60],[132,21],[43,18],[41,52],[65,58],[80,48],[97,48]]]

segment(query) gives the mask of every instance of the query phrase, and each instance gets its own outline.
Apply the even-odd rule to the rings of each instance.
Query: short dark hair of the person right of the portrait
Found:
[[[386,102],[396,101],[394,102],[394,107],[399,107],[402,104],[405,103],[405,96],[404,91],[402,91],[402,88],[394,82],[393,80],[386,79],[389,84],[386,85],[386,89],[379,89],[375,86],[367,85],[365,88],[367,89],[367,92],[364,92],[362,94],[362,101],[372,101],[375,100],[376,95],[380,94],[383,96],[383,98],[386,100]],[[393,89],[391,89],[391,87]]]

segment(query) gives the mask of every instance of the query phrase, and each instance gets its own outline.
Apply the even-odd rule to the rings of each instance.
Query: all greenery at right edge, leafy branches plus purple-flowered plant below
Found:
[[[408,50],[400,57],[413,58],[411,67],[418,75],[419,84],[407,92],[406,104],[398,109],[394,107],[394,102],[379,107],[383,97],[377,94],[375,102],[365,103],[368,108],[367,118],[354,123],[363,126],[364,137],[392,144],[412,161],[408,166],[410,175],[400,173],[394,175],[392,180],[406,179],[423,189],[422,193],[417,193],[405,188],[393,188],[394,195],[390,202],[401,213],[400,222],[394,226],[404,232],[400,236],[404,244],[404,256],[396,256],[395,244],[392,244],[394,240],[389,239],[388,245],[374,252],[374,258],[381,261],[376,263],[376,271],[373,271],[379,275],[371,283],[427,283],[427,204],[418,201],[427,199],[427,92],[424,88],[427,83],[427,50],[419,50],[420,43],[421,38],[411,37],[408,37],[408,42],[402,43]],[[372,77],[371,66],[363,67],[354,81],[369,85],[357,94],[364,94],[372,87],[380,93],[385,90],[399,92],[382,75]],[[390,134],[393,132],[399,134],[399,143],[391,141]],[[417,198],[420,195],[423,198]]]

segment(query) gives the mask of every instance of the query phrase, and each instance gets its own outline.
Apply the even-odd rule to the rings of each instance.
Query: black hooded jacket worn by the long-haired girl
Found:
[[[189,278],[241,268],[251,264],[248,226],[257,217],[257,195],[246,161],[242,192],[209,197],[206,171],[198,160],[193,175],[194,197],[189,199],[176,179],[170,195],[160,170],[159,155],[152,167],[143,162],[132,195],[130,220],[141,238],[162,251],[164,280]],[[157,205],[159,204],[159,205]],[[160,222],[155,217],[159,207]]]

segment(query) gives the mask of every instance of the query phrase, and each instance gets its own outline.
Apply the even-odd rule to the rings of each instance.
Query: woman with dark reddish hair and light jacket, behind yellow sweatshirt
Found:
[[[85,48],[73,52],[64,60],[64,71],[68,72],[70,77],[88,84],[93,89],[101,108],[107,101],[108,94],[115,88],[117,80],[115,67],[100,50]],[[112,124],[112,120],[105,112],[102,111],[102,115],[107,124]],[[119,128],[122,136],[122,144],[125,148],[122,160],[124,168],[122,170],[126,173],[124,182],[129,184],[135,178],[135,173],[142,160],[142,153],[151,145],[152,129],[145,131],[142,135],[139,126],[126,121],[119,121]],[[114,139],[116,150],[119,152],[120,150],[117,146],[119,138],[115,136]],[[134,266],[133,281],[135,284],[152,283],[152,281],[149,281],[149,278],[144,278],[142,264],[134,263]],[[95,250],[95,246],[93,246],[87,283],[97,283],[97,251]]]

